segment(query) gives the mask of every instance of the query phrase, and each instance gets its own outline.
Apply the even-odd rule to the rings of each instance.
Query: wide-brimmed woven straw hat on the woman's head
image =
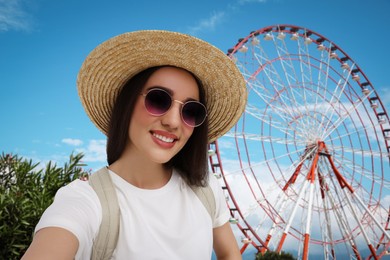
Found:
[[[226,54],[189,35],[145,30],[124,33],[103,42],[88,55],[80,69],[78,94],[97,128],[107,135],[113,104],[131,77],[161,65],[186,69],[202,81],[210,142],[238,121],[245,109],[246,85]]]

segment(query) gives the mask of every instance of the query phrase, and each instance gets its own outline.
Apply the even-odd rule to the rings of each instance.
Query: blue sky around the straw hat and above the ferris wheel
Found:
[[[59,165],[84,152],[89,168],[105,165],[105,136],[81,106],[77,73],[96,45],[139,29],[191,34],[226,52],[262,27],[306,27],[359,65],[389,113],[389,12],[388,0],[0,0],[0,149]]]

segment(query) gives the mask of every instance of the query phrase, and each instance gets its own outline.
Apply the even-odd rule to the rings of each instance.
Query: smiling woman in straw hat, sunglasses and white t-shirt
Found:
[[[81,102],[107,135],[108,173],[120,208],[112,259],[241,259],[207,143],[246,101],[242,75],[217,48],[168,31],[111,38],[86,58]],[[210,186],[210,217],[193,187]],[[57,192],[23,259],[90,259],[102,205],[88,182]]]

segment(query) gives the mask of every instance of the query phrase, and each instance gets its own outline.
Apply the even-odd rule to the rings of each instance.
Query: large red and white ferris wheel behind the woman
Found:
[[[338,45],[306,28],[251,32],[227,53],[246,111],[210,144],[241,253],[379,259],[390,245],[390,124]]]

